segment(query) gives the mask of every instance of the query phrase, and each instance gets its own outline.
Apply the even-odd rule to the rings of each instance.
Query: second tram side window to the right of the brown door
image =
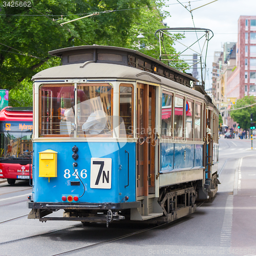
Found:
[[[175,111],[174,111],[174,136],[183,137],[183,106],[184,99],[175,97]]]

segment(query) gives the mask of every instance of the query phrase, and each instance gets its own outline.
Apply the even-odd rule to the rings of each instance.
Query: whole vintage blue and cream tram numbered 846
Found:
[[[215,196],[219,112],[197,79],[130,49],[50,54],[62,65],[32,78],[28,218],[163,223]]]

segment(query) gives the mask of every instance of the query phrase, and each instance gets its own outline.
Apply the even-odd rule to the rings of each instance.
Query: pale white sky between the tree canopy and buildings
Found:
[[[208,4],[214,0],[197,0],[190,1],[179,0],[179,2],[187,6],[190,10],[197,7]],[[256,15],[256,0],[218,0],[209,5],[203,6],[192,12],[191,14],[185,9],[177,0],[166,0],[166,6],[163,10],[168,11],[171,16],[164,19],[167,23],[167,27],[178,28],[178,27],[195,27],[210,29],[214,33],[208,42],[208,54],[206,58],[206,78],[205,78],[205,89],[211,88],[212,83],[212,62],[214,62],[214,52],[223,51],[224,42],[237,42],[238,40],[238,19],[240,16]],[[183,42],[186,44],[193,44],[195,41],[195,35],[185,34],[186,39]],[[200,47],[203,46],[203,41],[200,42]],[[195,45],[195,49],[198,44]],[[183,47],[176,43],[175,48],[180,51]],[[195,50],[194,49],[194,50]],[[198,47],[199,49],[199,47]],[[207,75],[208,73],[208,75]]]

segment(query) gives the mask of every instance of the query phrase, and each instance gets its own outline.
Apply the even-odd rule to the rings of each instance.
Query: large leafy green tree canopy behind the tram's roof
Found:
[[[162,5],[163,0],[34,0],[31,7],[4,7],[0,15],[0,88],[11,90],[10,103],[31,104],[32,96],[18,94],[31,91],[29,81],[34,74],[59,65],[60,60],[48,54],[54,49],[97,44],[139,50],[143,44],[141,52],[158,58],[154,33],[163,28],[162,19],[169,15],[160,13]],[[99,14],[60,26],[96,12]],[[143,39],[137,38],[139,33]],[[176,53],[173,41],[167,48]]]

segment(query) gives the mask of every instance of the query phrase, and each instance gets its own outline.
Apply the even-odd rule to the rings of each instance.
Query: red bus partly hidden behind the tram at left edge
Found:
[[[29,179],[32,151],[32,108],[7,106],[0,112],[0,178],[9,184]]]

